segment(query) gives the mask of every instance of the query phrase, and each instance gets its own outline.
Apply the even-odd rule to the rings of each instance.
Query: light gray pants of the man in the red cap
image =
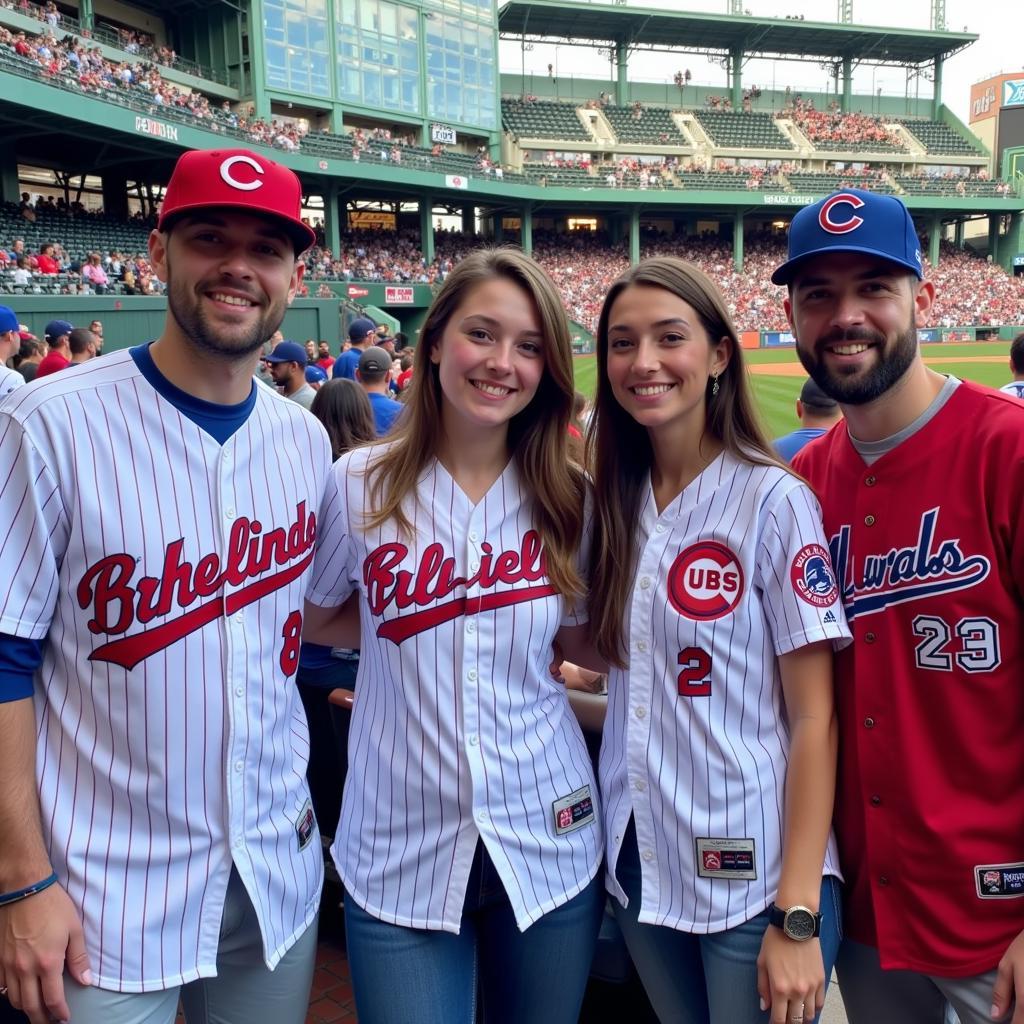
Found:
[[[273,971],[249,894],[231,871],[217,946],[217,977],[160,992],[83,988],[65,974],[74,1024],[173,1024],[178,999],[188,1024],[303,1024],[316,959],[316,922]]]

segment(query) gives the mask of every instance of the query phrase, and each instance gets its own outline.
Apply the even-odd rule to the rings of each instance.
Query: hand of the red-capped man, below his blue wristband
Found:
[[[63,972],[91,985],[89,955],[78,911],[58,885],[0,907],[0,987],[32,1024],[71,1019]]]

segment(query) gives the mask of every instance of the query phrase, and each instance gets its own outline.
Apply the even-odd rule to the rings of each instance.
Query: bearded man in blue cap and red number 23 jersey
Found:
[[[794,468],[854,633],[836,658],[847,1013],[941,1024],[948,1000],[962,1024],[1021,1024],[1024,407],[925,365],[935,289],[898,199],[801,210],[772,280],[846,420]]]

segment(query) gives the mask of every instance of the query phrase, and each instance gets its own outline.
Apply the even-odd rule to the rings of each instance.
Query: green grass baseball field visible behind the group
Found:
[[[939,362],[934,369],[939,373],[953,374],[961,380],[977,381],[989,387],[1000,387],[1011,379],[1007,367],[1010,343],[1007,341],[974,342],[971,344],[925,345],[926,360],[952,359]],[[998,356],[996,362],[973,362],[978,356]],[[782,362],[799,365],[797,353],[792,348],[748,349],[743,359],[749,364]],[[963,360],[963,361],[961,361]],[[574,360],[577,387],[584,394],[594,393],[597,365],[593,355],[581,355]],[[769,436],[777,437],[788,433],[798,426],[796,401],[803,385],[803,377],[776,377],[752,374],[754,393]]]

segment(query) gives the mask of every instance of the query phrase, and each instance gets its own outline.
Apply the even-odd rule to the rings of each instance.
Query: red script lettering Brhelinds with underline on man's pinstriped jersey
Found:
[[[221,615],[241,611],[302,575],[312,562],[315,540],[316,517],[306,511],[305,502],[299,502],[289,527],[276,526],[264,534],[259,520],[236,519],[223,563],[216,552],[203,555],[195,565],[183,561],[184,540],[179,539],[164,550],[159,577],[144,575],[132,584],[137,559],[127,554],[105,555],[85,570],[76,590],[79,607],[92,606],[87,623],[91,633],[119,636],[136,623],[145,626],[203,598],[211,600],[170,622],[112,640],[97,647],[89,660],[133,669]],[[287,568],[262,575],[274,565]],[[254,582],[247,583],[250,580]],[[224,596],[220,591],[225,586],[239,589]]]

